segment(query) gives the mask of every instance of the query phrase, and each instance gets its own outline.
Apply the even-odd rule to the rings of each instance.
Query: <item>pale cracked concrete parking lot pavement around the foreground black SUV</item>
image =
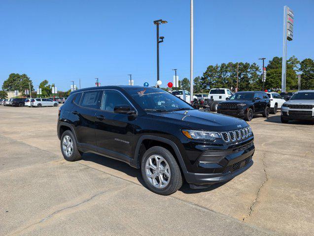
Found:
[[[313,235],[312,123],[257,116],[248,171],[165,197],[125,163],[65,161],[57,111],[0,106],[0,235]]]

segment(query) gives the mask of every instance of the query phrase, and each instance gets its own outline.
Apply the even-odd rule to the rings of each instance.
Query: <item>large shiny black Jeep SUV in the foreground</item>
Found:
[[[141,170],[158,194],[207,187],[252,164],[253,134],[242,119],[193,109],[162,89],[107,86],[72,92],[59,109],[58,137],[68,161],[98,153]]]

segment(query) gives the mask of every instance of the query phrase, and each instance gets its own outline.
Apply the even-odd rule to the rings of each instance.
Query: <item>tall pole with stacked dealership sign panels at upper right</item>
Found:
[[[283,50],[282,50],[282,72],[281,72],[281,92],[286,90],[286,70],[287,70],[287,40],[293,39],[294,14],[292,10],[284,6],[283,8]]]

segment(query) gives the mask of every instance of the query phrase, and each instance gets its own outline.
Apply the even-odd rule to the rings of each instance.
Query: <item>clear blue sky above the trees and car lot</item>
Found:
[[[257,62],[282,55],[283,6],[295,14],[287,56],[314,58],[314,0],[194,0],[194,75],[209,64]],[[10,73],[58,90],[156,81],[156,27],[160,79],[189,78],[190,0],[1,0],[0,86]]]

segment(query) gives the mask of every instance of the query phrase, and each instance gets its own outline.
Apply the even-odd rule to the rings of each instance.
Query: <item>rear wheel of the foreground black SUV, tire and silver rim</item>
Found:
[[[66,130],[61,136],[61,151],[67,161],[78,161],[82,159],[82,154],[77,149],[74,136],[70,130]]]

